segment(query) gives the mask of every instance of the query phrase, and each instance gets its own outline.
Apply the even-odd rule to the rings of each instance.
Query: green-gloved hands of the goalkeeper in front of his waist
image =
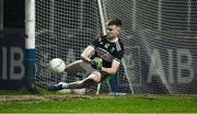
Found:
[[[99,70],[102,70],[102,69],[103,69],[103,60],[102,60],[102,58],[100,58],[100,57],[94,57],[94,58],[91,60],[91,65],[92,65],[92,66],[95,66],[96,69],[99,69]]]

